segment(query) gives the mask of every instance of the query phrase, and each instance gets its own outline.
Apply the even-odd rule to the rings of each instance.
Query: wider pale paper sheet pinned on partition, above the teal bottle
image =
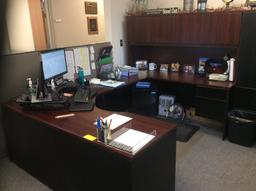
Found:
[[[84,75],[91,75],[90,58],[88,47],[74,48],[75,65],[84,70]]]

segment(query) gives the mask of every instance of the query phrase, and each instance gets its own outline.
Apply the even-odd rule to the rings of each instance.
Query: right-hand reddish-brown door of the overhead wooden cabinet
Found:
[[[238,45],[240,12],[190,13],[180,15],[181,43]]]

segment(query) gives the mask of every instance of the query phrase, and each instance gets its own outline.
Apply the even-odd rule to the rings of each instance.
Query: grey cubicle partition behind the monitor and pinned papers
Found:
[[[108,45],[110,45],[109,42],[90,45],[94,47],[95,59],[97,59],[101,47]],[[72,48],[83,46],[66,47],[65,49],[70,50]],[[40,79],[40,61],[39,51],[3,55],[0,57],[0,103],[15,98],[24,92],[27,87],[27,78],[32,78],[33,81]],[[2,126],[2,114],[0,108],[0,158],[6,156]]]

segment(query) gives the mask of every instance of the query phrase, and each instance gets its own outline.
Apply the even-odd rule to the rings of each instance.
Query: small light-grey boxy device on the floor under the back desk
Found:
[[[175,96],[172,95],[160,95],[158,115],[168,117],[169,108],[175,103]]]

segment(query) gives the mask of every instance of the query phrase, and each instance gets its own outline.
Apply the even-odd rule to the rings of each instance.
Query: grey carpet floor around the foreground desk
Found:
[[[50,191],[9,160],[0,161],[1,191]],[[255,191],[256,147],[221,140],[216,130],[200,128],[177,142],[176,191]]]

